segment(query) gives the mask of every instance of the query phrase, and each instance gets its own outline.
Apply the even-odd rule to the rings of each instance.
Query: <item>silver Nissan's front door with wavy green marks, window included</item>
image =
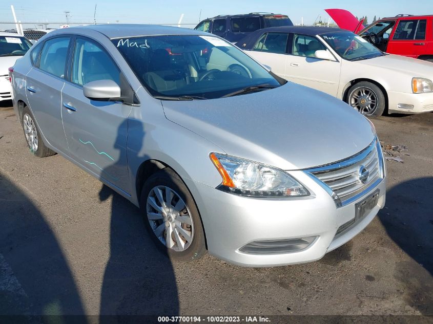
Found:
[[[120,69],[97,42],[79,37],[74,42],[68,81],[61,92],[69,155],[98,177],[130,193],[127,138],[131,106],[92,100],[83,93],[83,85],[96,80],[113,80],[120,86]]]

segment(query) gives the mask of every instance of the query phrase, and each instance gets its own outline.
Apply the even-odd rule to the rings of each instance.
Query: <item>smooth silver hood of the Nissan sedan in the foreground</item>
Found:
[[[291,82],[258,93],[162,105],[170,121],[218,145],[221,153],[284,170],[345,159],[375,138],[352,107]]]

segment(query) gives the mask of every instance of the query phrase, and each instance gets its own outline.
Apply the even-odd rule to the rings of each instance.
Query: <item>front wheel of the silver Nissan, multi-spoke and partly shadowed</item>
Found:
[[[171,190],[171,199],[167,196],[168,190]],[[172,169],[164,168],[149,177],[141,190],[140,209],[157,248],[172,260],[193,261],[207,253],[197,206],[188,188]],[[171,233],[169,240],[168,233]]]

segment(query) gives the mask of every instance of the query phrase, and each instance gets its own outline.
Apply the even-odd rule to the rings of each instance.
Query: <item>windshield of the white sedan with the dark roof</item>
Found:
[[[332,32],[320,36],[338,55],[349,61],[385,55],[367,40],[352,32]]]

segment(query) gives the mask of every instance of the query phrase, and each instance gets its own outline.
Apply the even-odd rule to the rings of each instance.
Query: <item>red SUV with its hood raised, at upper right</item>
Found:
[[[360,22],[350,12],[342,9],[326,12],[341,28],[357,32],[383,52],[433,62],[433,15],[382,18],[358,31]]]

